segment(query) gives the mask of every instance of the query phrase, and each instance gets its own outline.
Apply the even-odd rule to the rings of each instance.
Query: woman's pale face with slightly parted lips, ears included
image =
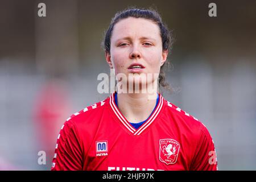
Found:
[[[159,74],[167,59],[157,24],[144,18],[126,18],[115,24],[106,60],[115,75]],[[153,80],[152,80],[153,81]]]

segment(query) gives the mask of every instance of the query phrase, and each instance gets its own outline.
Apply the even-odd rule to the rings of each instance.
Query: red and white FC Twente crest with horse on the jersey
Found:
[[[177,161],[177,156],[180,150],[180,144],[174,139],[160,139],[159,159],[161,162],[174,164]]]

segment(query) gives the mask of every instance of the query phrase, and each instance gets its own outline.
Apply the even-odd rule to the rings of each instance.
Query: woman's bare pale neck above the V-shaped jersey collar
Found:
[[[117,94],[118,108],[125,118],[132,123],[146,120],[156,104],[157,92]]]

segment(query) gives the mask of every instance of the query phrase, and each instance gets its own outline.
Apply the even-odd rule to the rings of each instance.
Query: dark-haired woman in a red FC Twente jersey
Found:
[[[164,85],[170,44],[156,11],[128,9],[115,15],[105,51],[117,92],[67,119],[52,170],[217,169],[207,128],[164,100],[154,86],[158,77]]]

